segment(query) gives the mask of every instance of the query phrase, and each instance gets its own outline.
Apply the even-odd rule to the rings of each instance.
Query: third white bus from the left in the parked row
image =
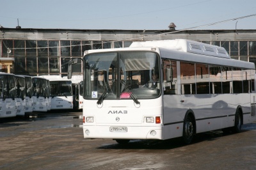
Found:
[[[33,112],[33,83],[32,83],[32,77],[28,75],[24,75],[25,77],[25,91],[26,91],[26,107],[25,107],[25,113],[26,112]]]

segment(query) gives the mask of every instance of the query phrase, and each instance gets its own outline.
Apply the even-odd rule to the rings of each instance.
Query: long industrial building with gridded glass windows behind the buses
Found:
[[[0,72],[67,76],[68,59],[84,50],[129,47],[134,41],[188,39],[224,47],[256,63],[256,30],[106,30],[0,28]],[[74,73],[82,74],[82,65]]]

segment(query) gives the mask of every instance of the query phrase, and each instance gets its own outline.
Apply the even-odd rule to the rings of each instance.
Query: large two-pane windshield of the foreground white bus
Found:
[[[104,99],[132,99],[135,102],[157,98],[161,93],[159,56],[154,52],[88,54],[84,60],[86,99],[98,99],[98,104]]]

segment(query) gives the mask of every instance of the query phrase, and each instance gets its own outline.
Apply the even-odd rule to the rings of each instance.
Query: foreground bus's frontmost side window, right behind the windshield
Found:
[[[163,60],[164,95],[177,94],[177,63],[170,59]]]

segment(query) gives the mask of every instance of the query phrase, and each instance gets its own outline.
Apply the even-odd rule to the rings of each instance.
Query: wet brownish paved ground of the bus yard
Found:
[[[256,169],[256,123],[239,134],[198,134],[192,144],[84,139],[81,112],[0,120],[0,169]]]

